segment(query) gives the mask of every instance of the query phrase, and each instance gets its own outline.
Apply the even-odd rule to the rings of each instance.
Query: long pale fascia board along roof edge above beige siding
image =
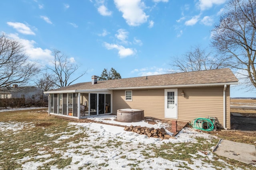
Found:
[[[225,83],[207,83],[207,84],[181,84],[181,85],[167,85],[167,86],[142,86],[142,87],[109,88],[109,90],[224,86],[225,84],[226,85],[235,85],[235,84],[239,84],[239,83],[238,82],[225,82]]]

